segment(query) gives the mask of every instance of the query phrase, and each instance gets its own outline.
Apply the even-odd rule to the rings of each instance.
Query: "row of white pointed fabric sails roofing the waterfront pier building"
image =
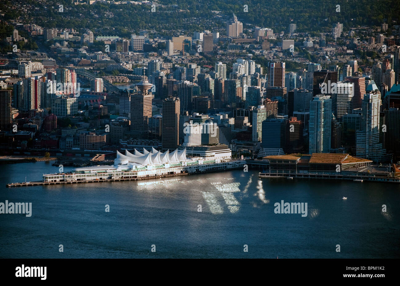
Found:
[[[153,164],[177,163],[188,160],[186,158],[186,148],[181,151],[176,149],[172,153],[170,153],[169,150],[161,153],[154,148],[152,148],[152,152],[149,152],[146,149],[143,149],[143,151],[147,153],[142,154],[135,149],[134,154],[132,154],[128,150],[125,150],[126,155],[123,155],[117,150],[117,156],[114,160],[114,165],[125,165],[132,163],[132,165],[146,166]]]

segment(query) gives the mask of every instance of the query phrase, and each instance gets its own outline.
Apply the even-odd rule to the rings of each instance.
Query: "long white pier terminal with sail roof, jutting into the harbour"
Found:
[[[246,161],[231,161],[230,149],[226,145],[225,147],[198,146],[198,148],[192,147],[189,152],[185,148],[176,149],[173,152],[167,150],[164,153],[154,148],[151,152],[143,148],[143,152],[134,149],[133,154],[125,150],[125,155],[117,151],[113,166],[91,166],[76,168],[69,173],[44,174],[43,182],[146,179],[182,173],[194,174],[243,168]],[[194,157],[188,158],[188,153]],[[204,157],[197,155],[204,155]]]

